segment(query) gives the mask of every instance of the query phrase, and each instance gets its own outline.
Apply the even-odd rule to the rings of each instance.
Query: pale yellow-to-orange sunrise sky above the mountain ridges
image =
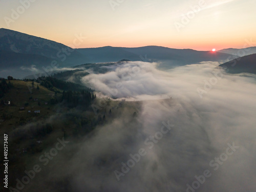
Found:
[[[22,0],[29,1],[29,0]],[[32,0],[31,0],[32,1]],[[34,1],[34,0],[33,0]],[[0,28],[72,45],[75,34],[86,39],[75,48],[141,47],[211,50],[243,48],[256,41],[255,0],[36,0],[14,22],[7,23],[20,1],[0,1]],[[204,5],[191,13],[191,6]],[[19,11],[23,11],[19,7]],[[182,23],[190,12],[189,23]],[[194,16],[194,17],[193,17]],[[193,18],[192,18],[193,17]],[[182,24],[177,30],[176,24]],[[185,25],[184,25],[185,24]],[[246,45],[246,47],[250,47]]]

